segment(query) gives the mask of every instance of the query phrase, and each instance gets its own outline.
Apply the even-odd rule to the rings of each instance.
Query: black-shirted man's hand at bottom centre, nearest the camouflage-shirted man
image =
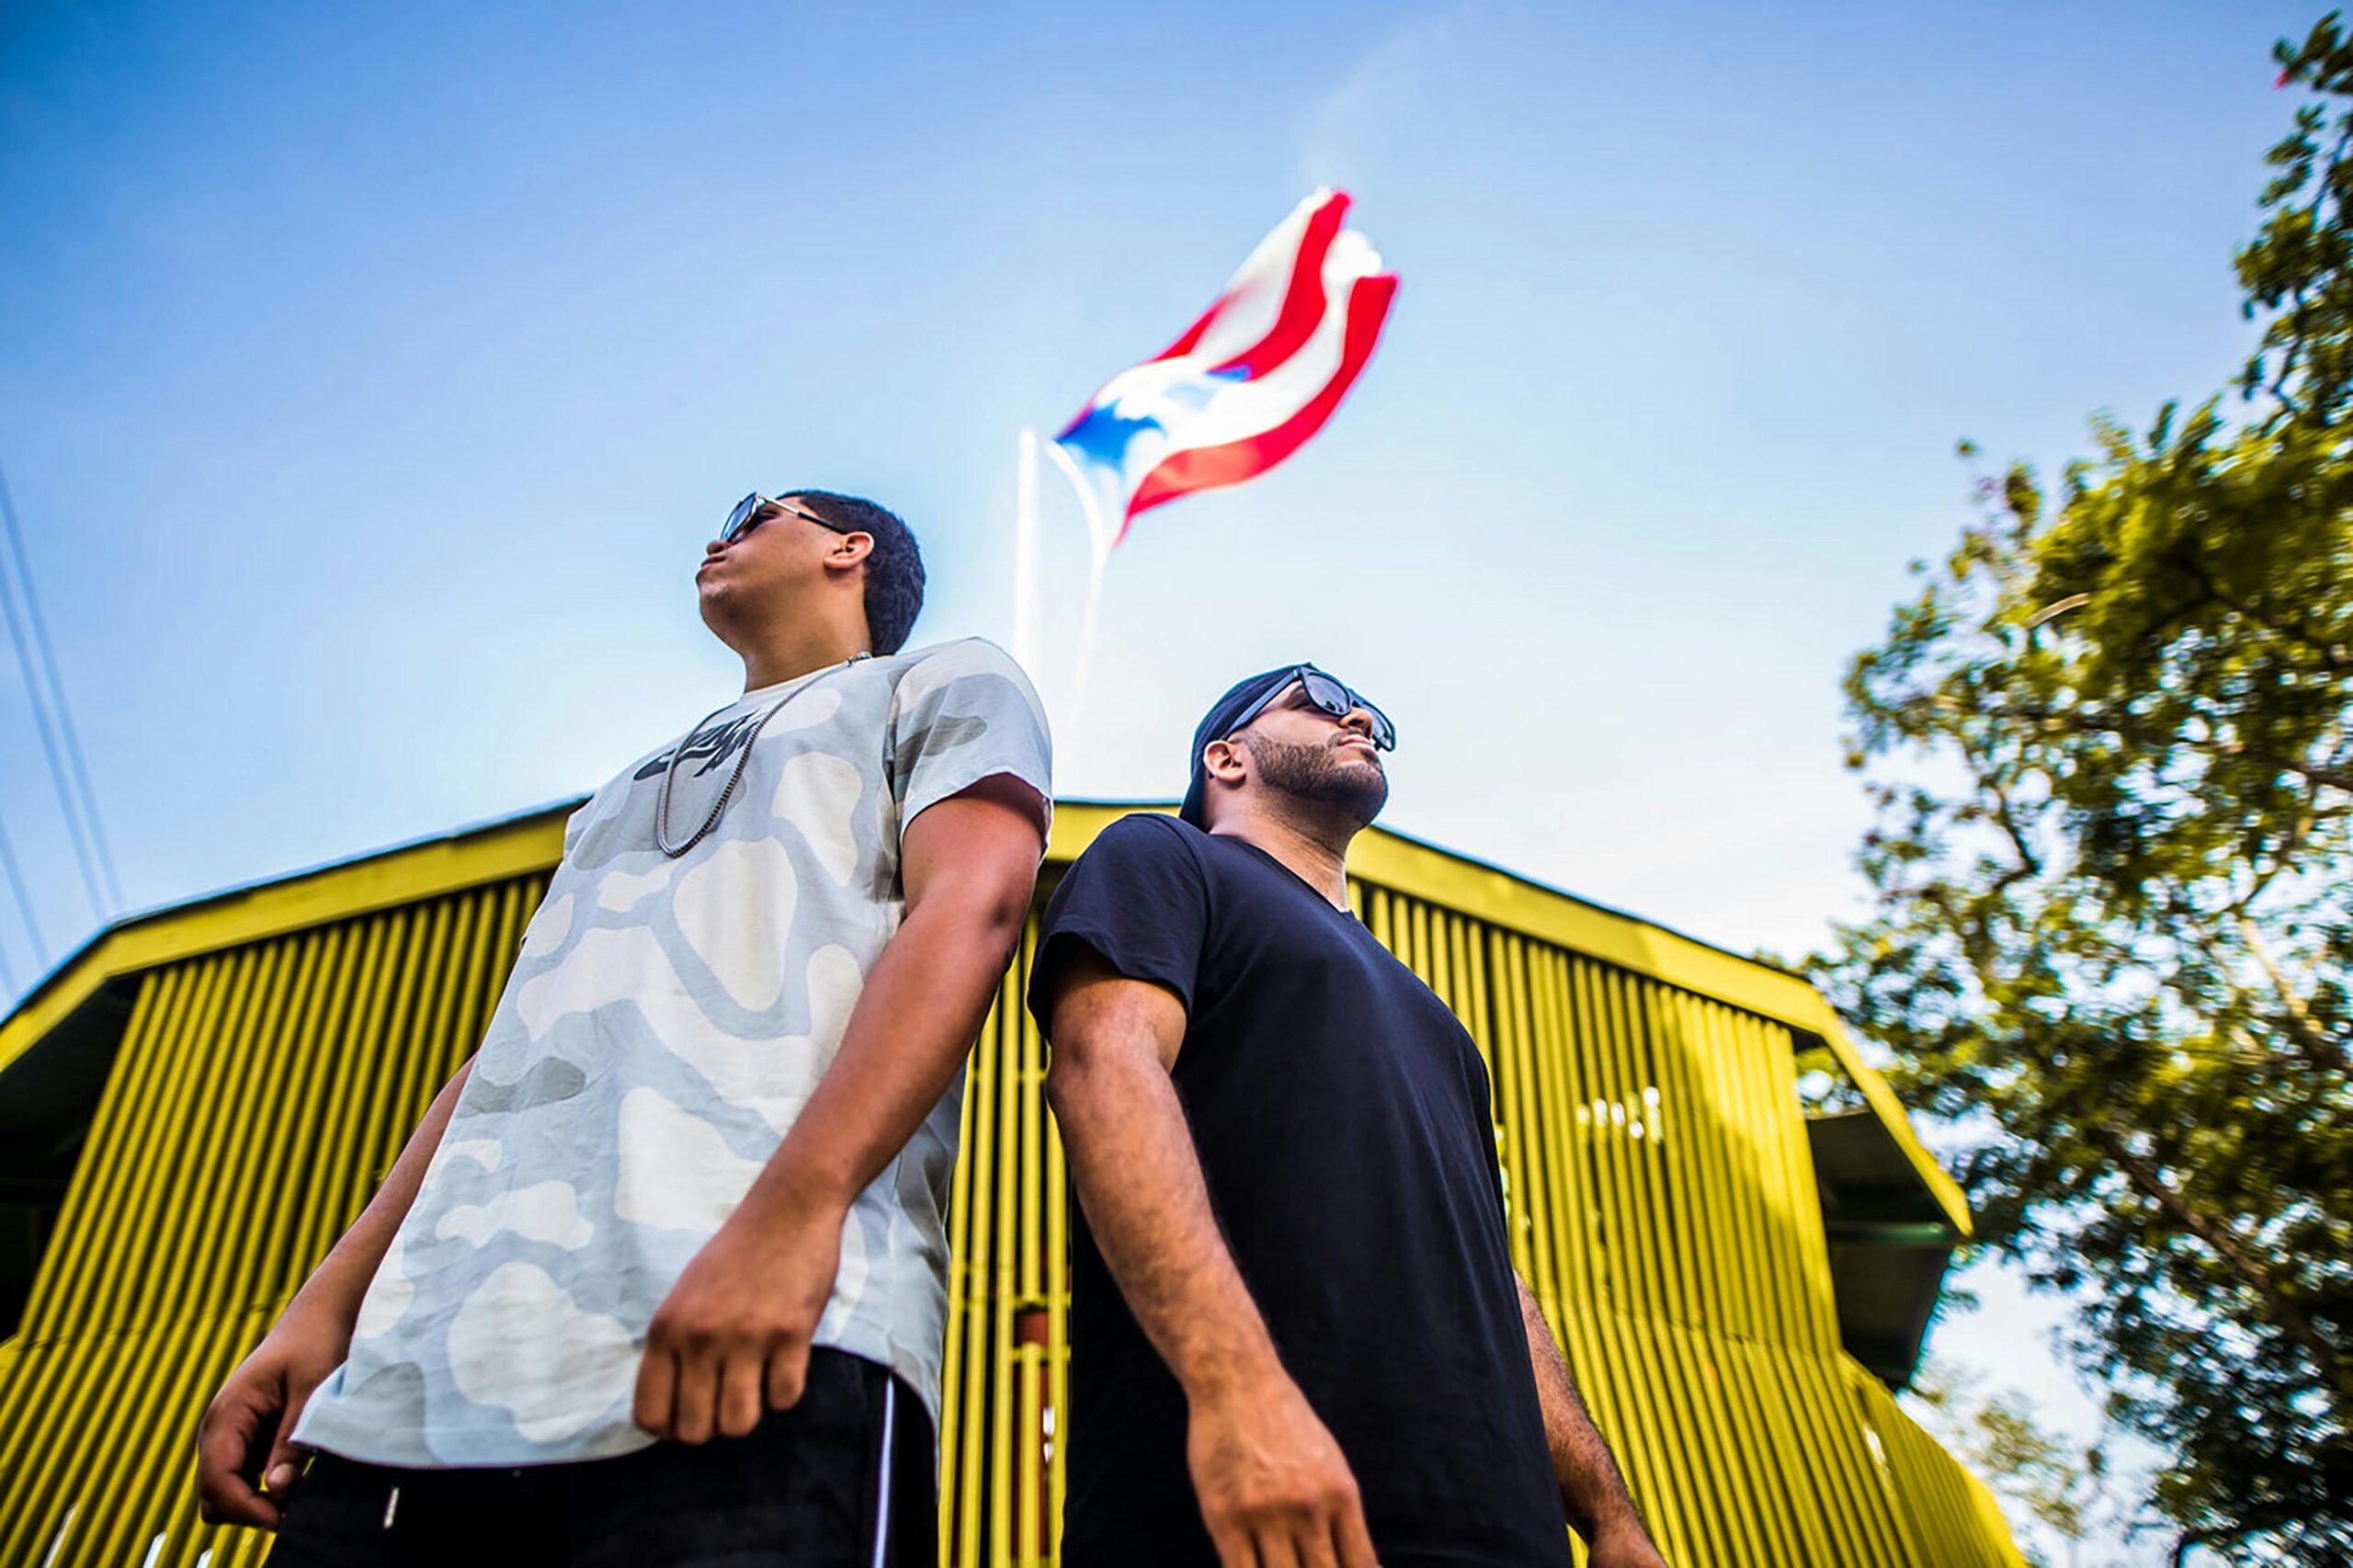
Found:
[[[1374,1568],[1348,1460],[1289,1377],[1195,1403],[1186,1457],[1224,1568]]]

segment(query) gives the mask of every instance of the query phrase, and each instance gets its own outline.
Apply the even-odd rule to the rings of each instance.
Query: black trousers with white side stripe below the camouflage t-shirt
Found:
[[[527,1469],[393,1469],[322,1453],[287,1500],[268,1563],[932,1568],[932,1417],[915,1391],[871,1361],[816,1349],[798,1406],[694,1448]]]

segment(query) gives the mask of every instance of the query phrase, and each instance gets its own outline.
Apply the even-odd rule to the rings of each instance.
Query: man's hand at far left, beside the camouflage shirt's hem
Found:
[[[287,1439],[311,1391],[348,1351],[348,1328],[327,1323],[325,1314],[289,1314],[238,1363],[195,1424],[195,1509],[205,1523],[278,1528],[304,1462],[304,1450]]]

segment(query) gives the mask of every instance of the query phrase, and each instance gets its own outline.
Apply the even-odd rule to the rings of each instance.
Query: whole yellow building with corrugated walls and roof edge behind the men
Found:
[[[261,1559],[195,1519],[195,1417],[473,1050],[567,810],[122,921],[0,1022],[0,1566]],[[1056,810],[1040,904],[1122,810]],[[1513,1262],[1668,1559],[2019,1563],[1889,1394],[1967,1208],[1821,996],[1379,829],[1353,869],[1487,1055]],[[1054,1561],[1087,1441],[1026,963],[965,1095],[944,1563]],[[1800,1050],[1868,1109],[1807,1118]]]

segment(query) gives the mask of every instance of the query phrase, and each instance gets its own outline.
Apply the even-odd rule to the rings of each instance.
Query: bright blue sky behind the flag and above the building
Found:
[[[0,466],[127,902],[685,727],[751,487],[894,504],[918,640],[1007,638],[1016,431],[1329,181],[1388,339],[1287,469],[1136,525],[1080,716],[1049,617],[1064,793],[1174,796],[1205,702],[1313,657],[1400,723],[1395,826],[1802,951],[1859,892],[1838,680],[1967,518],[1955,438],[2057,466],[2228,379],[2313,16],[12,5]],[[54,961],[92,911],[12,678],[0,822]]]

